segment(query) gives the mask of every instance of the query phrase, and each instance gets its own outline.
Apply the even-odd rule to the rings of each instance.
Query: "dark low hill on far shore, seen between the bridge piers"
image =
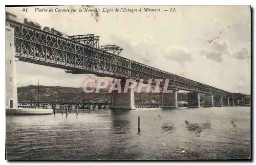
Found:
[[[32,101],[37,101],[38,86],[22,86],[18,87],[18,100],[30,101],[30,88],[32,91]],[[41,102],[82,102],[91,101],[95,102],[108,102],[111,101],[111,93],[107,90],[100,90],[100,93],[84,93],[82,88],[63,87],[63,86],[39,86],[39,101]],[[178,93],[178,101],[187,101],[186,93]],[[138,103],[162,103],[161,93],[135,93],[135,104]]]

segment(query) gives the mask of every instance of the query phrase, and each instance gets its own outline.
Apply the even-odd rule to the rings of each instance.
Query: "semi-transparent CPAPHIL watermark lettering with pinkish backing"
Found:
[[[147,83],[144,83],[145,80],[140,79],[137,82],[134,79],[126,79],[125,81],[116,79],[115,81],[107,79],[86,79],[82,82],[82,89],[86,93],[99,93],[104,90],[108,93],[118,92],[118,93],[127,93],[130,90],[134,90],[137,93],[172,93],[173,90],[168,90],[169,79],[155,79],[154,83],[152,79],[147,80]],[[161,86],[161,87],[160,87]],[[161,89],[162,90],[161,90]]]

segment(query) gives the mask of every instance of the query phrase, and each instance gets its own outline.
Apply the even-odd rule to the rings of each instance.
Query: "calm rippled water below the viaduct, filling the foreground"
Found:
[[[8,160],[249,158],[250,107],[7,116],[6,148]]]

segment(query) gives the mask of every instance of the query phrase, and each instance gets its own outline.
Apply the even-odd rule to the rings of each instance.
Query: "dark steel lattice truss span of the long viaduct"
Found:
[[[93,48],[84,43],[51,32],[6,19],[14,29],[15,56],[20,61],[71,70],[74,74],[95,74],[119,79],[169,79],[170,88],[212,95],[232,93],[163,70]],[[162,82],[160,85],[163,85]]]

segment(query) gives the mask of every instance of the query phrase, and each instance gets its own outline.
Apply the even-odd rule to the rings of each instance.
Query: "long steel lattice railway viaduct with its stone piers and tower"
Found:
[[[6,13],[6,81],[9,82],[6,106],[17,106],[15,85],[15,59],[29,63],[62,68],[66,73],[94,74],[98,77],[134,79],[143,83],[157,79],[168,80],[172,93],[163,93],[162,108],[176,108],[177,91],[188,91],[188,107],[200,107],[200,93],[207,95],[204,106],[234,106],[238,96],[207,84],[190,80],[158,68],[119,56],[117,45],[99,45],[94,34],[67,36],[53,28],[41,27],[33,21],[20,21],[14,14]],[[111,108],[135,109],[134,91],[113,92]]]

